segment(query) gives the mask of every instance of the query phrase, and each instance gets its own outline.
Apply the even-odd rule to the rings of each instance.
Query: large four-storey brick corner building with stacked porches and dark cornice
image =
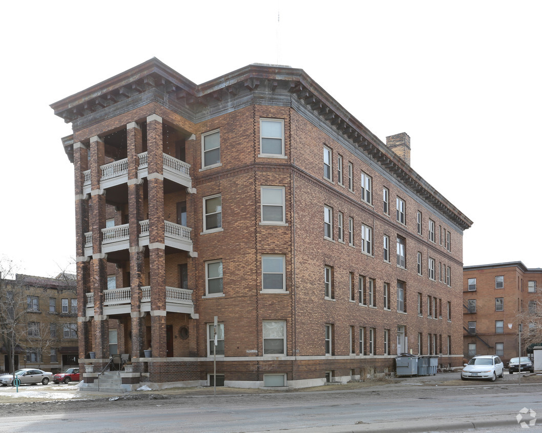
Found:
[[[210,384],[217,316],[217,383],[366,378],[406,351],[461,365],[472,221],[405,133],[401,158],[270,65],[196,85],[151,59],[51,107],[73,126],[81,358],[106,365],[113,335],[132,383]]]

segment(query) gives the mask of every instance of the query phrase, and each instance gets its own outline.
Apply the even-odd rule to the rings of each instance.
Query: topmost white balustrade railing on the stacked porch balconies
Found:
[[[143,179],[147,177],[149,160],[147,152],[139,156],[138,177]],[[170,155],[163,154],[164,179],[178,183],[186,188],[192,188],[190,179],[190,164],[177,160]],[[128,182],[128,158],[124,160],[113,161],[102,165],[100,177],[100,188],[106,189]],[[91,192],[91,170],[83,171],[85,180],[83,181],[83,194]]]

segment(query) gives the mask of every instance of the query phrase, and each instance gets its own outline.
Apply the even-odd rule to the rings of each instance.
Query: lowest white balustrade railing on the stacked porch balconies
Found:
[[[151,311],[151,286],[141,287],[141,311]],[[131,289],[109,289],[104,291],[104,315],[127,314],[131,312]],[[86,313],[94,316],[94,294],[87,293]],[[192,290],[166,286],[166,311],[172,313],[194,313]]]

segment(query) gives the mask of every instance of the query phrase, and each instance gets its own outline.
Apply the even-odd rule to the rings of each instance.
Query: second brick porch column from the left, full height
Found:
[[[105,227],[105,190],[100,189],[101,165],[105,163],[105,144],[91,137],[92,290],[94,292],[94,352],[96,358],[109,358],[109,327],[104,316],[104,290],[107,290],[107,254],[102,254],[102,232]]]

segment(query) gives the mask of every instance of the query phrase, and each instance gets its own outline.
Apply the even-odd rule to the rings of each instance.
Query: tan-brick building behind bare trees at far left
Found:
[[[34,367],[58,373],[78,365],[75,276],[58,278],[17,274],[0,278],[0,371]],[[8,338],[11,330],[14,338]],[[11,342],[15,342],[12,344]],[[11,358],[11,347],[15,354]]]

